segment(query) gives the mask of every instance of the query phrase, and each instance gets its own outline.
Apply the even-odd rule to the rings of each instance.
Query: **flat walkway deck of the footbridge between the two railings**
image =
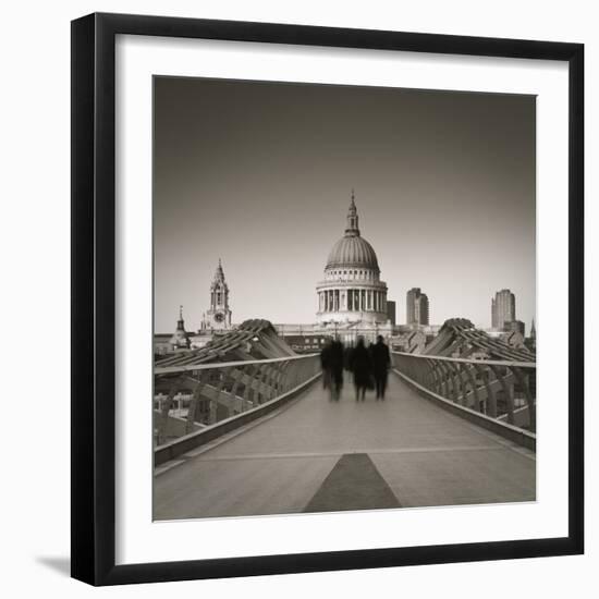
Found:
[[[534,501],[536,459],[423,399],[396,376],[384,401],[320,383],[157,470],[155,519]]]

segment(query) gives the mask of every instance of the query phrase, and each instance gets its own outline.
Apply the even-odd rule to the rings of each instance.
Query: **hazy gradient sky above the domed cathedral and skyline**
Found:
[[[533,96],[155,78],[155,330],[209,308],[222,258],[233,321],[314,322],[352,187],[405,322],[488,328],[508,288],[535,316]]]

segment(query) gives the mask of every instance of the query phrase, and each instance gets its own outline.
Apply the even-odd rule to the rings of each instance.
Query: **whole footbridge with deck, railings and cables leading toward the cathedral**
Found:
[[[384,401],[330,401],[318,354],[248,320],[155,365],[154,518],[536,499],[536,360],[448,320]]]

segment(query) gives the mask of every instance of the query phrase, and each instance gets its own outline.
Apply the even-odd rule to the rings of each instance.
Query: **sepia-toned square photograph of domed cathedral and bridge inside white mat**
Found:
[[[535,502],[536,97],[152,94],[154,521]]]

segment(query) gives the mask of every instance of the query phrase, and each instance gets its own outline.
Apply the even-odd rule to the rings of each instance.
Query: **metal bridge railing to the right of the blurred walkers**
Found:
[[[490,418],[536,431],[536,363],[403,352],[391,356],[393,367],[408,382]]]

